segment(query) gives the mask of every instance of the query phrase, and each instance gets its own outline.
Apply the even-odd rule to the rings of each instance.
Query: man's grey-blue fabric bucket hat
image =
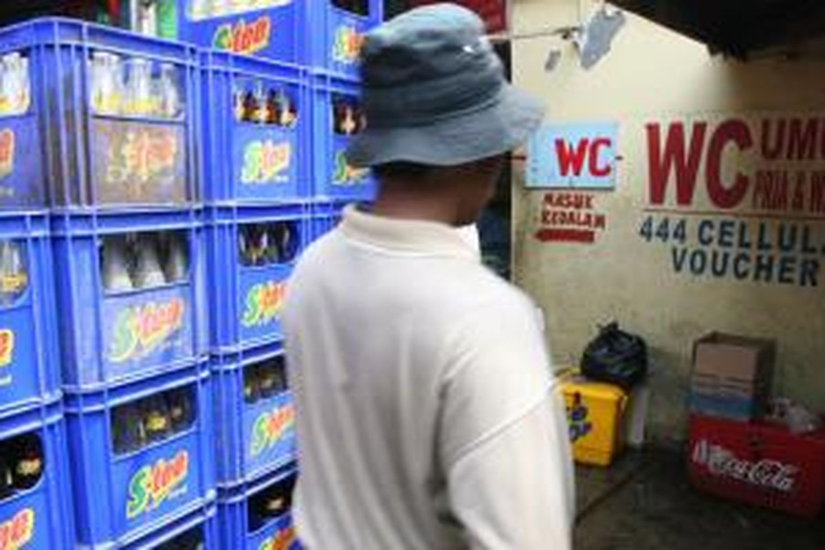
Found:
[[[544,109],[504,77],[483,22],[455,4],[414,9],[366,35],[361,50],[367,128],[353,167],[455,166],[524,143]]]

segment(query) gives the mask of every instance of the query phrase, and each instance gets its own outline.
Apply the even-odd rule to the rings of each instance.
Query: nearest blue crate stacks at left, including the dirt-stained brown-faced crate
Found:
[[[26,290],[0,293],[31,378],[12,363],[8,391],[45,443],[45,482],[0,504],[0,533],[11,521],[12,548],[216,541],[197,50],[62,19],[9,27],[0,44],[23,59],[3,58],[0,90],[31,90],[0,129],[21,167],[4,196],[50,206],[0,223],[29,272]]]

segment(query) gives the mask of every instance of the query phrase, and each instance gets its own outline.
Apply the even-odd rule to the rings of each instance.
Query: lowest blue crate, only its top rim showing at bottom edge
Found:
[[[125,550],[221,550],[218,535],[218,507],[214,501],[200,510],[172,520],[157,532],[129,544]],[[200,546],[199,546],[200,544]]]

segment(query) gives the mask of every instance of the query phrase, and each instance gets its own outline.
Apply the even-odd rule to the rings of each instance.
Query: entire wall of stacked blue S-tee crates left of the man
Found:
[[[304,248],[375,192],[343,151],[382,2],[183,3],[200,48],[0,30],[11,548],[299,546],[281,309]]]

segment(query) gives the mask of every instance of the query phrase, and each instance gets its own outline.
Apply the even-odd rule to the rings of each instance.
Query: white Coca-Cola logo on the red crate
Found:
[[[799,468],[778,460],[762,458],[752,461],[739,458],[722,445],[698,441],[691,454],[691,460],[707,468],[714,476],[729,477],[757,487],[774,489],[785,493],[794,490]]]

